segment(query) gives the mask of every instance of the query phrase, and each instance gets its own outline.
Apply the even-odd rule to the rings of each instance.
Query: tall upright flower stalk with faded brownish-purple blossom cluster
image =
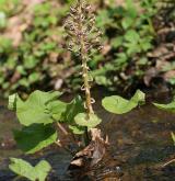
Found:
[[[82,90],[85,92],[85,103],[88,117],[93,114],[94,99],[91,97],[90,68],[88,61],[91,59],[92,49],[101,49],[101,31],[95,27],[95,15],[90,4],[83,0],[78,0],[74,7],[70,8],[70,13],[65,23],[68,32],[68,49],[75,53],[82,64]],[[89,118],[88,118],[89,120]]]

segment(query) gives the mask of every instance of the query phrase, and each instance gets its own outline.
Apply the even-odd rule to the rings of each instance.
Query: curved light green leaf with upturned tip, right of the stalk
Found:
[[[119,95],[112,95],[104,98],[102,100],[102,105],[112,113],[125,114],[138,106],[140,103],[144,103],[144,97],[145,94],[143,92],[137,90],[129,101]]]

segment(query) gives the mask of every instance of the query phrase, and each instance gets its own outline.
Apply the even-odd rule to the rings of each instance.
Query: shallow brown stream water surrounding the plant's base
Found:
[[[161,98],[162,99],[162,98]],[[4,105],[4,104],[3,104]],[[105,181],[173,181],[175,165],[163,165],[175,158],[175,146],[171,131],[175,131],[175,114],[159,111],[151,104],[125,115],[114,115],[96,105],[103,118],[101,128],[108,134],[110,146],[105,159],[92,170],[83,171],[90,180]],[[21,156],[12,139],[12,128],[19,128],[14,114],[0,108],[0,181],[9,181],[7,173],[9,157]],[[27,158],[27,157],[26,157]],[[51,180],[73,180],[67,173],[72,157],[61,149],[51,149],[27,158],[36,162],[46,158],[54,166]],[[3,174],[3,179],[2,178]],[[85,180],[85,179],[84,179]]]

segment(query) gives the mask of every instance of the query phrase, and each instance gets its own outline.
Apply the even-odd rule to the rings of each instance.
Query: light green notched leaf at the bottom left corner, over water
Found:
[[[31,166],[30,162],[23,159],[10,158],[10,170],[31,181],[45,181],[47,174],[51,170],[50,165],[46,160],[39,161],[35,167]]]

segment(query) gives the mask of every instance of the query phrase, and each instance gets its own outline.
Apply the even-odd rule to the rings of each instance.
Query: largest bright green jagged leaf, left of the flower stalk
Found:
[[[16,97],[16,115],[21,124],[28,126],[34,123],[52,123],[47,104],[57,99],[61,93],[42,92],[36,90],[26,101]]]

